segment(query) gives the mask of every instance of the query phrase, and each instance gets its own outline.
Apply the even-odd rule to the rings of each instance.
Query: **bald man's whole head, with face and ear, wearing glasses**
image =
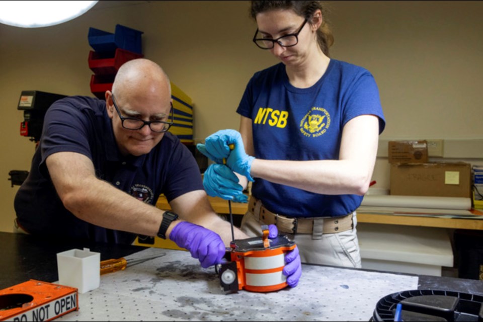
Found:
[[[153,131],[152,122],[172,122],[170,80],[163,69],[150,60],[134,59],[124,63],[114,79],[112,92],[106,91],[105,97],[106,112],[123,155],[149,153],[165,135]],[[127,124],[126,120],[129,120]]]

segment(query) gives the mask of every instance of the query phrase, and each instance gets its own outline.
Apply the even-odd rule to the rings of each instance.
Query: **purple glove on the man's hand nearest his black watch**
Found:
[[[225,255],[225,245],[220,236],[191,222],[178,223],[170,233],[170,239],[197,258],[203,268],[221,263]]]

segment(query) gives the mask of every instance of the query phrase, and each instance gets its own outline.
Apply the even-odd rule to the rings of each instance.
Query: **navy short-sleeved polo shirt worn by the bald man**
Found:
[[[68,97],[47,110],[30,174],[15,197],[19,223],[32,234],[123,244],[132,243],[136,236],[90,224],[64,208],[45,160],[53,153],[65,151],[86,155],[99,179],[152,205],[162,193],[171,201],[203,189],[195,158],[175,135],[165,133],[148,154],[123,156],[114,138],[106,102]]]

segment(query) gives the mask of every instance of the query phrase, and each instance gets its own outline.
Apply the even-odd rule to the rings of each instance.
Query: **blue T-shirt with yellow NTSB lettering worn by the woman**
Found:
[[[254,74],[236,110],[252,119],[255,156],[272,160],[339,159],[344,125],[356,116],[379,118],[379,91],[366,69],[331,59],[310,88],[289,83],[279,63]],[[342,216],[361,202],[358,195],[321,195],[256,178],[252,194],[272,212],[293,217]]]

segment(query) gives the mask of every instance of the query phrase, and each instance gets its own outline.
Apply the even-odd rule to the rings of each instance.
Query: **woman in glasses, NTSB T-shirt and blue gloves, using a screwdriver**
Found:
[[[239,133],[221,130],[200,145],[217,162],[204,187],[244,202],[253,181],[243,231],[275,223],[302,262],[361,267],[355,210],[385,126],[374,77],[329,56],[334,38],[318,1],[252,1],[251,16],[253,41],[280,63],[250,79],[236,110]]]

